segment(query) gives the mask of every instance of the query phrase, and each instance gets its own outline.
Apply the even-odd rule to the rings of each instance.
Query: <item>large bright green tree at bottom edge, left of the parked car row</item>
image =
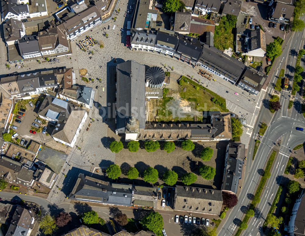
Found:
[[[151,212],[141,221],[142,226],[157,235],[162,235],[163,217],[158,212]]]

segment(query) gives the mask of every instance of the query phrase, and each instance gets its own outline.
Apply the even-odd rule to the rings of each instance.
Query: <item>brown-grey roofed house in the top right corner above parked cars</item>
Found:
[[[279,23],[279,24],[286,24],[290,23],[290,19],[293,16],[294,6],[285,4],[282,2],[275,2],[271,6],[269,20]]]

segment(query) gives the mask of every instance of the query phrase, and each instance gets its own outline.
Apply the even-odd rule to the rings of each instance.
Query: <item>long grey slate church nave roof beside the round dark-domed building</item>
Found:
[[[132,114],[145,128],[145,65],[127,61],[117,65],[116,133],[125,133]]]

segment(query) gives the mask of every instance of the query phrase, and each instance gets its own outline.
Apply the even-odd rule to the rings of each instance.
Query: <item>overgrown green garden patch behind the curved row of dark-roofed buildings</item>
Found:
[[[218,26],[215,26],[214,47],[224,51],[234,48],[234,34],[232,33],[237,21],[236,16],[227,15],[221,17]]]

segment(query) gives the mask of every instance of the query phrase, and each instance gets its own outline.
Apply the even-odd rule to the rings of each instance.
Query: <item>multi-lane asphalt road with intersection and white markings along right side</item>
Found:
[[[304,16],[302,16],[301,19],[304,20]],[[275,68],[277,69],[275,69],[274,74],[271,77],[271,83],[267,88],[267,93],[265,95],[266,100],[269,100],[269,93],[273,91],[272,81],[274,81],[274,83],[276,82],[277,77],[275,76],[278,76],[279,71],[284,64],[285,74],[293,76],[293,72],[289,71],[289,69],[290,66],[295,66],[296,57],[290,55],[290,50],[295,49],[298,51],[299,49],[303,48],[303,44],[304,32],[294,33],[283,50],[280,59],[275,65]],[[290,80],[291,85],[292,82],[293,81]],[[251,194],[255,193],[257,183],[260,181],[260,174],[258,173],[258,170],[264,169],[267,157],[275,147],[274,144],[278,143],[278,141],[281,139],[281,146],[277,147],[279,148],[279,152],[277,159],[275,160],[274,167],[271,171],[271,177],[267,182],[267,186],[263,190],[261,201],[257,206],[261,213],[259,212],[257,217],[253,217],[248,222],[248,228],[242,235],[252,236],[260,234],[264,218],[270,209],[268,203],[273,202],[279,183],[282,180],[281,176],[285,171],[287,161],[291,154],[289,150],[297,144],[304,142],[304,133],[296,130],[297,126],[305,128],[305,119],[300,112],[301,104],[294,105],[292,109],[287,111],[289,96],[291,96],[291,90],[282,90],[280,93],[280,103],[282,104],[282,109],[276,112],[274,115],[272,115],[270,111],[264,107],[264,102],[263,104],[259,105],[261,107],[260,113],[257,118],[257,125],[255,125],[253,129],[247,155],[249,157],[246,163],[246,176],[248,178],[245,178],[244,180],[243,188],[239,194],[238,204],[232,209],[218,235],[225,236],[234,234],[235,230],[237,229],[237,225],[243,218],[244,213],[242,212],[242,209],[249,204],[249,197]],[[297,94],[295,101],[299,100],[302,102],[302,97]],[[262,121],[267,122],[268,128],[264,137],[261,138],[261,144],[257,150],[256,157],[254,161],[252,161],[254,142],[255,139],[257,139],[259,124]],[[270,122],[268,123],[268,121]]]

